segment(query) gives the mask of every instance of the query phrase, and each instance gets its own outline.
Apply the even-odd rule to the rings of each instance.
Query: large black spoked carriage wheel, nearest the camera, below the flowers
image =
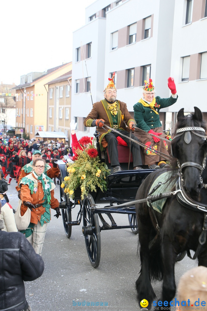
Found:
[[[93,204],[93,197],[91,194],[88,194],[83,201],[82,231],[85,237],[86,249],[91,265],[94,268],[97,268],[101,258],[101,235],[98,215],[91,212],[91,205]]]

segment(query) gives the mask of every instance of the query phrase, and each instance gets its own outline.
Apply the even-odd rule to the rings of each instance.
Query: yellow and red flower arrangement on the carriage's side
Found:
[[[76,150],[77,156],[74,163],[67,163],[68,176],[64,178],[61,188],[71,198],[74,191],[80,187],[81,199],[89,192],[100,188],[103,192],[107,189],[106,176],[110,174],[106,163],[101,163],[98,151],[92,144],[84,150]]]

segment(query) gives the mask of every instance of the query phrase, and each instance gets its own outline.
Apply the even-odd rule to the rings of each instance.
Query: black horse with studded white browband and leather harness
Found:
[[[177,160],[174,161],[176,163],[173,169],[169,170],[169,181],[174,180],[173,183],[176,184],[179,179],[181,193],[184,193],[187,203],[182,196],[178,202],[177,196],[173,195],[167,198],[162,213],[154,211],[146,203],[136,204],[141,260],[136,289],[139,302],[147,299],[149,307],[153,300],[156,301],[153,306],[158,300],[167,301],[170,306],[169,303],[176,292],[174,266],[179,253],[187,251],[190,256],[190,250],[197,250],[198,265],[207,267],[207,243],[198,248],[200,234],[204,232],[204,216],[207,213],[196,210],[196,204],[193,204],[202,200],[200,190],[203,184],[200,175],[207,152],[206,124],[200,109],[194,109],[194,114],[187,116],[184,115],[183,109],[178,112],[176,134],[171,143],[172,155]],[[166,171],[168,170],[159,169],[148,175],[139,187],[136,199],[146,198],[155,179]],[[207,179],[207,173],[205,178]],[[205,189],[204,196],[206,192]],[[195,208],[188,203],[190,201]],[[151,280],[163,280],[160,299],[155,299]]]

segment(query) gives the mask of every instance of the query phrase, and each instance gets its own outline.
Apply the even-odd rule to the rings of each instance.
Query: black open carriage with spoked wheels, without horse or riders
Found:
[[[65,160],[67,160],[66,157]],[[64,161],[58,160],[58,166],[61,172],[61,185],[68,173]],[[88,257],[94,268],[98,267],[101,258],[101,231],[130,228],[134,234],[138,233],[136,211],[131,202],[135,200],[137,189],[142,181],[152,171],[154,170],[123,170],[111,174],[107,176],[108,186],[106,192],[97,189],[97,192],[88,193],[83,200],[81,200],[80,188],[74,192],[74,200],[71,200],[64,192],[64,189],[60,187],[60,208],[65,234],[67,238],[70,238],[72,226],[80,225],[83,218],[82,232]],[[96,207],[96,204],[105,202],[106,206]],[[120,204],[126,202],[129,202],[129,204],[119,207]],[[78,215],[76,220],[72,221],[71,212],[77,205],[79,205]],[[129,224],[125,226],[116,224],[112,216],[113,213],[128,214]]]

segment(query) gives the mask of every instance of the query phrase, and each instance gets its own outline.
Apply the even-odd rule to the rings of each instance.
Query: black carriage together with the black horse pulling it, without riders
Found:
[[[176,290],[174,265],[180,254],[182,259],[186,252],[191,256],[190,250],[193,250],[193,258],[198,258],[199,265],[207,266],[207,205],[204,204],[207,144],[206,125],[200,109],[195,107],[195,113],[187,116],[181,109],[176,129],[171,144],[172,155],[177,159],[173,169],[117,172],[107,177],[106,192],[89,193],[83,200],[77,193],[74,202],[60,188],[65,233],[70,238],[72,226],[79,225],[83,217],[82,231],[93,267],[98,267],[100,262],[100,231],[131,228],[136,234],[139,229],[142,268],[136,287],[139,301],[147,299],[149,307],[155,298],[151,279],[163,279],[161,300],[168,301],[170,306]],[[58,162],[58,165],[61,180],[64,180],[67,176],[65,163]],[[157,182],[152,188],[155,178],[166,172],[168,180],[174,180],[173,187],[166,193],[155,194],[155,188],[162,184]],[[152,202],[162,197],[165,198],[164,207],[157,212]],[[96,207],[97,202],[105,201],[109,201],[108,205]],[[72,221],[71,211],[78,204],[77,220]],[[118,226],[113,213],[128,214],[129,225]]]

